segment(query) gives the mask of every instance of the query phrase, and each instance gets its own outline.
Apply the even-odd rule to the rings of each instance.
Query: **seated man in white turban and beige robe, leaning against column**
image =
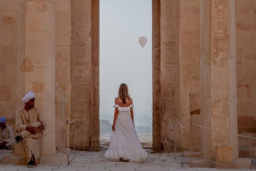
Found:
[[[28,167],[34,167],[39,157],[39,141],[46,126],[39,109],[35,107],[35,95],[28,92],[21,99],[25,106],[16,112],[16,127],[19,135],[15,137],[16,142],[23,142],[26,151]]]

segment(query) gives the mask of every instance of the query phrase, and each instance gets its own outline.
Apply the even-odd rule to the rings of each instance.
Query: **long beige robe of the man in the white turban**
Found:
[[[25,149],[27,155],[27,162],[34,155],[35,161],[39,157],[39,141],[43,135],[43,132],[37,130],[36,134],[31,134],[26,130],[26,126],[39,127],[41,124],[44,125],[44,130],[46,129],[43,116],[37,107],[33,107],[31,110],[27,111],[24,107],[19,108],[16,112],[16,128],[19,134],[21,134],[23,140],[23,148]]]

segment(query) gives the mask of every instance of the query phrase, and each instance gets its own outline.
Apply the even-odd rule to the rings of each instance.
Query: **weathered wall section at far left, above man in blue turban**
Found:
[[[16,69],[19,33],[19,0],[0,1],[0,116],[16,134]]]

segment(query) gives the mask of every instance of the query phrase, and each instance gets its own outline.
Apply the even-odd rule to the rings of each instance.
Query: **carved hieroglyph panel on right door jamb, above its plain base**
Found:
[[[162,108],[163,111],[177,110],[177,14],[176,0],[165,0],[161,4],[164,13],[161,14],[163,20],[163,56],[161,60],[162,69]]]

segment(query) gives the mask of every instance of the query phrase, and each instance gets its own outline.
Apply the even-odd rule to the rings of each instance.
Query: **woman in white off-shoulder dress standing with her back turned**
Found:
[[[134,128],[132,109],[134,105],[125,83],[120,85],[118,97],[115,98],[115,105],[113,107],[115,108],[113,132],[110,138],[109,149],[106,151],[105,156],[125,162],[146,159],[148,154],[142,149]]]

